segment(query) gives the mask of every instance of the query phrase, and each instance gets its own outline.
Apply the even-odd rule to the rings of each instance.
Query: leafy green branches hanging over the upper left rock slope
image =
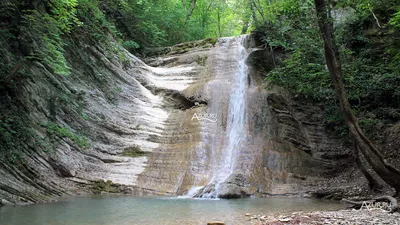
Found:
[[[71,32],[75,26],[81,25],[76,17],[77,0],[45,1],[49,12],[37,9],[22,10],[20,27],[28,32],[30,42],[26,58],[39,60],[52,72],[69,75],[70,68],[64,56],[62,36]],[[28,8],[28,7],[27,7]]]

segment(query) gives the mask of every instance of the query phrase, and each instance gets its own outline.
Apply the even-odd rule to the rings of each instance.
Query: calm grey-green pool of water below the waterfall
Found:
[[[172,225],[250,224],[256,215],[291,211],[336,210],[343,205],[307,198],[207,200],[189,198],[91,196],[56,203],[0,208],[1,225]]]

